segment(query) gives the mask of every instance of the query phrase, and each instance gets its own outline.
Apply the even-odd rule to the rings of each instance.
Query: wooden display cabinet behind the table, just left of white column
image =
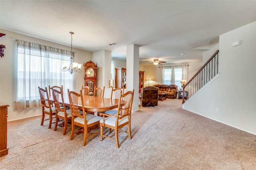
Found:
[[[126,89],[126,69],[116,68],[115,88]]]

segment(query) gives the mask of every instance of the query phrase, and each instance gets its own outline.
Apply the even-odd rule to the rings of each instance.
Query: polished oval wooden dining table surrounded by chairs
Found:
[[[64,94],[63,98],[64,105],[70,107],[68,94]],[[61,97],[59,99],[61,100]],[[109,99],[104,97],[83,95],[83,101],[85,111],[94,112],[94,115],[96,115],[98,112],[116,109],[118,107],[119,99]],[[50,97],[50,102],[54,102],[53,97]],[[121,102],[121,105],[124,105],[124,102]],[[80,98],[78,99],[78,106],[80,106],[80,109],[82,109],[82,103]]]

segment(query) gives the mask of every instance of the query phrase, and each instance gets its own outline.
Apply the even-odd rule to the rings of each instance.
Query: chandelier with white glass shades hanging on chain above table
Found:
[[[71,74],[74,72],[81,72],[81,66],[82,64],[78,64],[78,63],[74,63],[73,60],[73,52],[72,52],[72,34],[74,34],[74,32],[69,32],[69,34],[71,34],[71,57],[70,57],[70,65],[68,66],[67,62],[63,62],[62,63],[62,70],[61,71],[68,71]]]

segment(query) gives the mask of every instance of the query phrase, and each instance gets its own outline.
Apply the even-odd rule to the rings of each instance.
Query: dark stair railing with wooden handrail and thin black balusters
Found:
[[[201,69],[183,87],[182,104],[208,83],[218,72],[219,50],[201,67]]]

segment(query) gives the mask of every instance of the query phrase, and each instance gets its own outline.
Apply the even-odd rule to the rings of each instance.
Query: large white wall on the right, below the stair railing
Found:
[[[253,22],[220,36],[220,76],[184,103],[184,109],[256,134],[255,30]],[[232,47],[236,41],[241,45]]]

